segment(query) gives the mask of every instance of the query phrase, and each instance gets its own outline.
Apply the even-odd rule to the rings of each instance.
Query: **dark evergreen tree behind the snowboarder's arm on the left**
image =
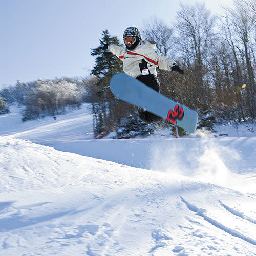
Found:
[[[111,52],[103,49],[105,44],[115,44],[121,46],[116,36],[112,37],[108,30],[102,32],[100,45],[92,49],[91,55],[96,57],[95,66],[91,74],[98,79],[96,84],[92,83],[89,89],[92,99],[92,111],[94,121],[95,136],[101,136],[109,131],[115,130],[123,116],[127,116],[134,111],[134,107],[117,100],[111,93],[109,83],[111,77],[122,72],[122,61]]]

